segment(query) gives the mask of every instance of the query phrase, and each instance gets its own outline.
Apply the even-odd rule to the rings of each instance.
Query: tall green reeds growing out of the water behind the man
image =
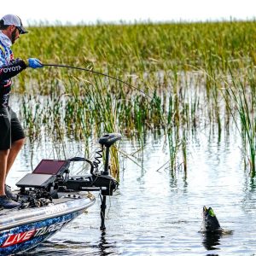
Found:
[[[143,148],[145,134],[152,131],[166,136],[175,175],[180,165],[188,172],[187,143],[197,131],[207,127],[221,140],[235,123],[246,166],[255,174],[255,21],[29,31],[15,44],[16,56],[90,68],[144,92],[76,70],[27,69],[14,90],[22,95],[20,115],[32,142],[42,137],[86,141],[116,131],[136,137]]]

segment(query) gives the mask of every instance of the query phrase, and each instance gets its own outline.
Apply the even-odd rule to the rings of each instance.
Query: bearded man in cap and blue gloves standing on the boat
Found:
[[[0,207],[20,207],[15,195],[5,184],[6,177],[20,148],[25,142],[25,134],[15,112],[9,107],[11,78],[26,67],[43,67],[38,59],[26,61],[15,59],[10,47],[26,34],[21,20],[16,15],[4,15],[0,20]]]

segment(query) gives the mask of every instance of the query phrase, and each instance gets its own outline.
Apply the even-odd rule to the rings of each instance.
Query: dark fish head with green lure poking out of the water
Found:
[[[221,232],[223,229],[218,223],[218,218],[212,210],[212,207],[203,207],[203,221],[201,224],[202,232]]]

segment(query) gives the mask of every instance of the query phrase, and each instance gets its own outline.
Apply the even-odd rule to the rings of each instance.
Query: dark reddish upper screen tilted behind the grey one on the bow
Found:
[[[67,170],[68,166],[67,160],[41,160],[32,173],[56,175]]]

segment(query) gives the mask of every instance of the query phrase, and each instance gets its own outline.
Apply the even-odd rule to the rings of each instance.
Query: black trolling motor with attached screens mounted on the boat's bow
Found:
[[[74,193],[79,191],[101,192],[101,230],[105,227],[105,212],[107,196],[113,195],[119,183],[109,174],[109,149],[113,143],[121,139],[119,133],[109,133],[99,139],[102,146],[97,151],[96,160],[91,161],[82,157],[69,160],[41,160],[32,173],[22,177],[16,186],[20,188],[18,196],[26,197],[31,202],[30,207],[43,207],[46,201],[57,199],[59,193]],[[105,150],[104,150],[105,149]],[[105,153],[104,170],[98,170],[101,158]],[[69,177],[69,166],[74,161],[85,161],[90,164],[90,175]]]

